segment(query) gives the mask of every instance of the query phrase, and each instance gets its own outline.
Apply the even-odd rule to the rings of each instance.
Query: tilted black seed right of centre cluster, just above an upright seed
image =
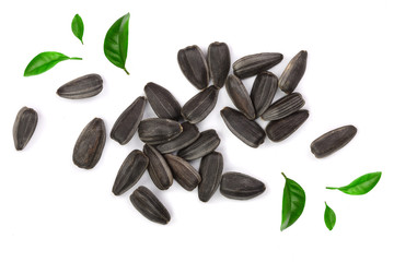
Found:
[[[193,144],[181,150],[177,155],[185,160],[194,160],[211,153],[219,144],[218,133],[213,129],[209,129],[201,132]]]

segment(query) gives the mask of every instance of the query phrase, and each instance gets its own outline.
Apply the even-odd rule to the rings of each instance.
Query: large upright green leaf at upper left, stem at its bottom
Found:
[[[118,19],[108,29],[104,40],[105,57],[116,67],[127,72],[125,64],[128,47],[128,24],[130,14],[127,13]]]

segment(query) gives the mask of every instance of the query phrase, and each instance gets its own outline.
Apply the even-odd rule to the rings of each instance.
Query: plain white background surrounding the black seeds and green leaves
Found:
[[[393,261],[393,1],[8,1],[0,10],[0,261]],[[127,69],[107,61],[106,31],[130,12]],[[79,13],[84,45],[72,35]],[[143,95],[152,81],[169,88],[183,105],[197,90],[183,76],[178,49],[225,41],[232,62],[245,55],[279,51],[283,61],[308,50],[308,68],[297,91],[309,120],[281,143],[268,140],[252,148],[220,118],[232,106],[224,88],[215,110],[198,124],[213,128],[224,171],[242,171],[267,186],[264,194],[234,201],[219,192],[208,203],[196,190],[176,182],[167,190],[144,184],[162,200],[172,219],[166,226],[141,216],[130,204],[131,189],[114,196],[112,186],[124,158],[142,148],[136,135],[120,146],[107,138],[92,170],[72,164],[74,142],[94,117],[107,134],[120,112]],[[50,71],[24,78],[30,60],[42,51],[82,57]],[[103,92],[84,100],[56,95],[63,83],[100,73]],[[253,79],[247,79],[250,90]],[[282,94],[278,92],[280,97]],[[37,110],[37,129],[16,152],[12,126],[21,107]],[[144,117],[153,117],[150,107]],[[260,124],[265,126],[263,121]],[[334,155],[316,159],[310,143],[344,124],[356,138]],[[198,168],[199,162],[193,165]],[[381,170],[368,194],[351,196],[326,186],[345,186]],[[300,219],[280,231],[285,180],[306,192]],[[324,225],[324,201],[337,214],[333,231]]]

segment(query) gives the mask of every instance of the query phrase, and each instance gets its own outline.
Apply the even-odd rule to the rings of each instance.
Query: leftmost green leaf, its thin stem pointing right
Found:
[[[58,62],[65,60],[82,60],[82,58],[70,58],[61,52],[54,51],[40,52],[27,64],[23,75],[31,76],[44,73],[55,67]]]

